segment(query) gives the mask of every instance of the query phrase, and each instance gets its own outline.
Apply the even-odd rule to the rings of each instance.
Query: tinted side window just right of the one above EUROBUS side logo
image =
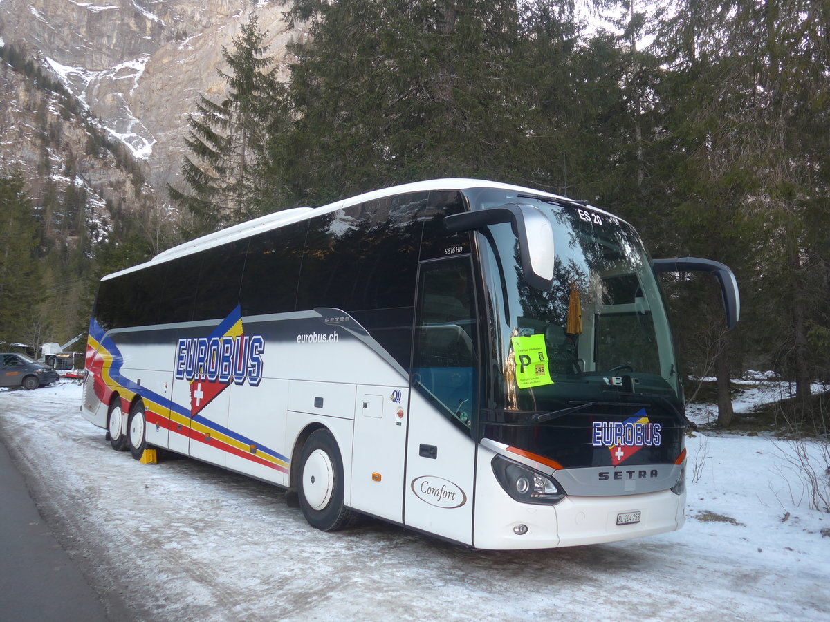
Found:
[[[242,315],[295,310],[307,228],[303,221],[251,238],[242,276]]]

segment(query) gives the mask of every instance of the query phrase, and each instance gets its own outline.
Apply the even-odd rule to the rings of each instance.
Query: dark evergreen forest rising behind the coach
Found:
[[[217,68],[226,95],[195,102],[171,241],[434,177],[556,192],[622,216],[655,257],[735,271],[731,331],[714,279],[662,277],[720,425],[749,369],[793,382],[793,416],[827,420],[811,383],[830,383],[830,0],[295,0],[286,18],[286,80],[254,16]],[[49,266],[17,177],[0,178],[0,217],[0,339],[20,340],[12,301]],[[79,324],[148,236],[67,250]]]

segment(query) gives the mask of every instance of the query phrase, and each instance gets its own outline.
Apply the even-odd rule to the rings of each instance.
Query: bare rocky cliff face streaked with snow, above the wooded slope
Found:
[[[0,0],[0,37],[60,76],[164,198],[166,184],[178,182],[194,101],[224,95],[222,46],[256,12],[284,67],[298,35],[285,10],[247,0]]]

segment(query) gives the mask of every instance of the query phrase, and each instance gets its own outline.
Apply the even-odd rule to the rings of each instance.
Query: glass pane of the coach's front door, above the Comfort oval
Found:
[[[476,315],[469,257],[423,264],[413,384],[466,428],[476,407]]]

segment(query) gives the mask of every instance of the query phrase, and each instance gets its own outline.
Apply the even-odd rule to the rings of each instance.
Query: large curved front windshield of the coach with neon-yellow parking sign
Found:
[[[495,316],[490,369],[497,377],[489,387],[496,410],[545,413],[589,401],[657,400],[682,411],[661,289],[636,231],[606,212],[544,197],[488,189],[471,200],[474,209],[530,204],[554,231],[549,291],[522,279],[509,224],[482,232]]]

